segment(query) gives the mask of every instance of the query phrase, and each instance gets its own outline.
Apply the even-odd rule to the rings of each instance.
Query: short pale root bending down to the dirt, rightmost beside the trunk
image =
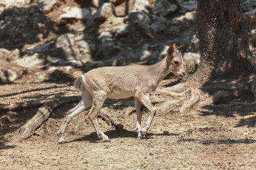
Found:
[[[186,101],[182,106],[180,107],[180,113],[186,113],[188,112],[192,106],[194,106],[196,103],[198,103],[200,99],[200,90],[198,89],[191,89],[191,97],[188,101]]]

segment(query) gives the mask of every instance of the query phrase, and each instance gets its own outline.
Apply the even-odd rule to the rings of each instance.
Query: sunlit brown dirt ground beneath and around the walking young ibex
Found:
[[[29,81],[30,80],[30,81]],[[159,88],[173,80],[161,82]],[[1,106],[60,96],[77,96],[70,83],[33,82],[29,78],[1,85]],[[168,96],[154,94],[164,101]],[[118,132],[99,118],[111,139],[102,143],[85,111],[70,122],[65,144],[56,133],[67,111],[76,103],[63,104],[35,134],[14,142],[19,127],[35,115],[38,107],[0,113],[0,169],[256,169],[255,106],[221,108],[205,106],[186,114],[160,113],[145,139],[134,128],[136,113],[125,115],[133,99],[107,99],[108,115],[124,125]],[[161,103],[156,104],[161,108]],[[145,123],[148,112],[143,113]]]

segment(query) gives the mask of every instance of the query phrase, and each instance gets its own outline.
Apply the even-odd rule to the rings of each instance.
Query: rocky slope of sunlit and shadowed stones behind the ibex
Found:
[[[243,0],[255,23],[256,0]],[[196,1],[2,0],[0,82],[67,81],[95,67],[153,64],[177,43],[200,63]]]

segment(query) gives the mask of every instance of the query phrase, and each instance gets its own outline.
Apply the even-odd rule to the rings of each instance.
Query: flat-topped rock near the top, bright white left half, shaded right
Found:
[[[92,20],[92,14],[88,8],[77,8],[67,6],[62,10],[64,13],[58,17],[58,19],[63,18],[76,18],[84,20]]]

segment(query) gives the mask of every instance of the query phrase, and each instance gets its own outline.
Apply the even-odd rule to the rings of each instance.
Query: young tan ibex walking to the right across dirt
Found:
[[[97,122],[97,114],[107,97],[115,99],[134,97],[137,113],[136,131],[138,138],[143,138],[156,115],[156,108],[150,102],[150,94],[156,90],[158,83],[170,72],[179,77],[185,74],[182,55],[177,51],[175,43],[169,46],[166,57],[154,65],[135,64],[120,67],[100,67],[82,74],[74,83],[76,89],[81,90],[82,99],[76,107],[68,111],[67,117],[63,120],[58,131],[58,143],[64,143],[63,135],[70,120],[90,106],[92,108],[88,117],[97,136],[105,142],[110,142]],[[150,111],[150,116],[145,127],[141,129],[143,105]]]

